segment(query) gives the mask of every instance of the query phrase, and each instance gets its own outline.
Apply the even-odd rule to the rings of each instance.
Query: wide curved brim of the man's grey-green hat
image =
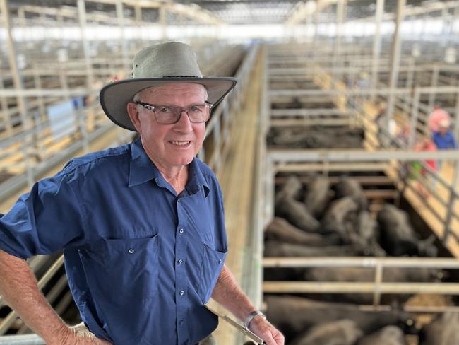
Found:
[[[134,78],[109,83],[100,90],[100,105],[109,119],[119,127],[136,131],[127,112],[127,104],[133,96],[145,88],[161,86],[167,83],[197,83],[205,87],[208,101],[217,105],[234,88],[236,78]]]

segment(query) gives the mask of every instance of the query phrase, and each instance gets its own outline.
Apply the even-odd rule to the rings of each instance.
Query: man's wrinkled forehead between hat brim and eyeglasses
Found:
[[[207,100],[207,90],[198,83],[166,83],[141,90],[141,99],[145,102],[173,103],[187,100],[189,103],[203,103]]]

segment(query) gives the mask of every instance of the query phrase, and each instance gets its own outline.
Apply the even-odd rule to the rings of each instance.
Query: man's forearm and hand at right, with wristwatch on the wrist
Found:
[[[227,310],[232,312],[240,320],[246,320],[251,312],[256,308],[250,302],[246,294],[237,286],[231,271],[223,266],[220,276],[218,277],[215,288],[213,289],[212,298],[223,305]],[[249,329],[258,337],[266,341],[267,345],[283,345],[284,336],[264,317],[256,316],[251,320]]]

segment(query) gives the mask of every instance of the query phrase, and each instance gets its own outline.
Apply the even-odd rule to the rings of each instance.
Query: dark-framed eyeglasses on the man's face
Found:
[[[182,112],[186,112],[190,122],[202,123],[210,119],[210,110],[213,104],[205,102],[204,104],[193,104],[186,107],[177,107],[176,105],[153,105],[143,102],[136,102],[146,110],[155,114],[156,122],[159,124],[175,124],[179,122]]]

